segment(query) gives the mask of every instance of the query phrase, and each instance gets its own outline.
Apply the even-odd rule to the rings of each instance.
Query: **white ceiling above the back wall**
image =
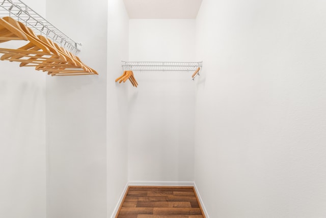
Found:
[[[202,0],[123,0],[130,19],[194,19]]]

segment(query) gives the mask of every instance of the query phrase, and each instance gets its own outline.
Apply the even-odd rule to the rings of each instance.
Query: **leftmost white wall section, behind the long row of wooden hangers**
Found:
[[[24,2],[44,16],[45,2]],[[0,217],[44,218],[45,75],[9,61],[0,68]]]

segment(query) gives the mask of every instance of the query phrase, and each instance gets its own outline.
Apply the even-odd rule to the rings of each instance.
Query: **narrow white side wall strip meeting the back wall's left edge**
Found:
[[[127,86],[115,83],[128,59],[129,18],[122,0],[108,1],[107,50],[107,217],[111,217],[127,184]]]

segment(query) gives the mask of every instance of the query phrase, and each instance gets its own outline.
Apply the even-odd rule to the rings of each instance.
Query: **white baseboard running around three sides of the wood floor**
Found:
[[[114,209],[113,214],[111,215],[111,218],[115,218],[116,214],[118,213],[120,204],[122,203],[123,197],[125,196],[125,193],[127,192],[128,186],[191,186],[191,187],[194,187],[195,191],[197,193],[199,203],[202,206],[203,212],[205,213],[206,218],[209,218],[206,208],[204,206],[203,200],[200,197],[200,194],[199,194],[199,191],[198,191],[198,188],[197,188],[195,182],[154,182],[154,181],[128,181],[126,186],[123,189],[123,192],[120,196],[117,206]]]

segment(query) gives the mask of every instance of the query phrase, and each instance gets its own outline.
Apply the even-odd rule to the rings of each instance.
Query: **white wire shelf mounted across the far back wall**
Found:
[[[203,62],[131,62],[122,61],[124,70],[132,71],[195,71]]]

